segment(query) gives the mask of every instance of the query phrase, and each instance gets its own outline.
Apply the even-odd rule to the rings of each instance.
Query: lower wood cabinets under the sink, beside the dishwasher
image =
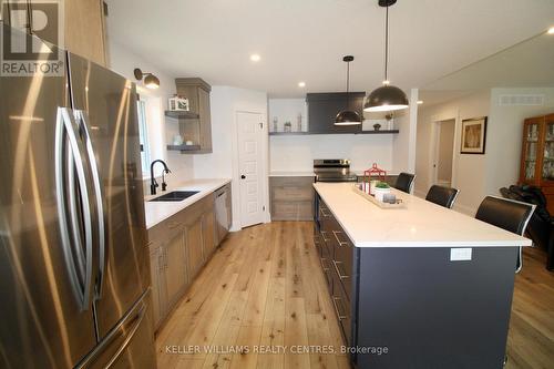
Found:
[[[156,330],[217,247],[214,201],[211,194],[148,229]]]

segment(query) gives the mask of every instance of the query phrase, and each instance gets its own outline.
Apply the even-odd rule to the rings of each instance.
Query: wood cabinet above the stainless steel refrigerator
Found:
[[[6,3],[7,1],[2,1],[2,4]],[[31,20],[31,28],[27,28],[28,32],[31,33],[31,30],[38,31],[42,28],[38,23],[39,18],[33,19],[29,14],[37,16],[43,6],[43,1],[27,1],[27,18]],[[2,6],[2,20],[12,25],[19,25],[10,18],[4,6]],[[63,40],[59,39],[55,32],[40,33],[40,37],[100,65],[106,65],[104,2],[102,0],[64,0],[63,25]]]

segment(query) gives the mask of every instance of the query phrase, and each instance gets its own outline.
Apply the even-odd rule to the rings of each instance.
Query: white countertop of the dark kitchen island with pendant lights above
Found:
[[[357,247],[531,246],[531,239],[397,189],[404,208],[382,209],[351,183],[314,187]]]

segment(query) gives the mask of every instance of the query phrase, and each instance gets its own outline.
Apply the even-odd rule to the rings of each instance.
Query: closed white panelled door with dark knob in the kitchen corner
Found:
[[[240,226],[264,222],[263,116],[237,112]]]

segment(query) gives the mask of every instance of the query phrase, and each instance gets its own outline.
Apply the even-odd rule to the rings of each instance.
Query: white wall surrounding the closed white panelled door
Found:
[[[211,94],[212,112],[212,146],[213,153],[194,155],[194,177],[214,178],[229,177],[233,180],[233,227],[239,228],[239,188],[238,188],[238,151],[236,113],[260,113],[263,123],[267,123],[267,94],[230,86],[213,86]],[[267,135],[267,124],[264,124]],[[269,222],[269,192],[267,183],[267,141],[261,148],[264,153],[264,204],[266,206],[266,221]]]

